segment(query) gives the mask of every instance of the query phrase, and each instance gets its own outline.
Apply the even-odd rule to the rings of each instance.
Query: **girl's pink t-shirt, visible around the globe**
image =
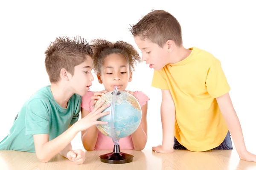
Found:
[[[91,97],[93,96],[92,91],[87,91],[86,95],[82,96],[81,107],[85,110],[91,112],[93,107],[91,105]],[[134,91],[134,94],[139,99],[140,107],[143,107],[149,100],[148,96],[142,91]],[[111,137],[105,136],[98,130],[98,139],[95,144],[94,150],[113,150],[114,143]],[[131,135],[119,140],[119,145],[121,150],[131,150],[134,149],[134,145],[131,139]]]

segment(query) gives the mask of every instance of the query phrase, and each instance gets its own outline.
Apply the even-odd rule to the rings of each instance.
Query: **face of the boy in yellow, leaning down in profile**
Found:
[[[140,37],[134,38],[138,48],[142,51],[142,60],[154,70],[160,70],[169,63],[168,46],[161,48],[150,40],[141,40]]]

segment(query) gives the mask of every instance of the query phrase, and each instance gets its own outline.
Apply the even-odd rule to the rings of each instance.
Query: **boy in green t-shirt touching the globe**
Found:
[[[71,140],[79,131],[96,124],[109,105],[94,108],[79,120],[81,96],[93,81],[92,49],[81,37],[70,40],[58,37],[45,51],[45,67],[51,85],[32,95],[14,120],[9,135],[0,142],[0,150],[35,152],[38,159],[47,162],[60,153],[82,164],[85,153],[72,150]],[[102,107],[101,107],[102,106]]]

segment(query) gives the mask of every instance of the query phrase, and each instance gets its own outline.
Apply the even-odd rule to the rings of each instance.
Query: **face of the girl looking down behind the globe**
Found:
[[[110,54],[104,59],[101,73],[97,74],[99,83],[103,83],[106,91],[113,91],[115,87],[124,91],[131,82],[132,73],[129,63],[122,54]]]

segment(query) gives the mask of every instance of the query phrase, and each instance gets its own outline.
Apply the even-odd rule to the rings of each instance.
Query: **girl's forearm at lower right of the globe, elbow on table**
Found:
[[[145,148],[148,138],[141,124],[137,130],[131,134],[131,139],[135,150],[143,150]]]

